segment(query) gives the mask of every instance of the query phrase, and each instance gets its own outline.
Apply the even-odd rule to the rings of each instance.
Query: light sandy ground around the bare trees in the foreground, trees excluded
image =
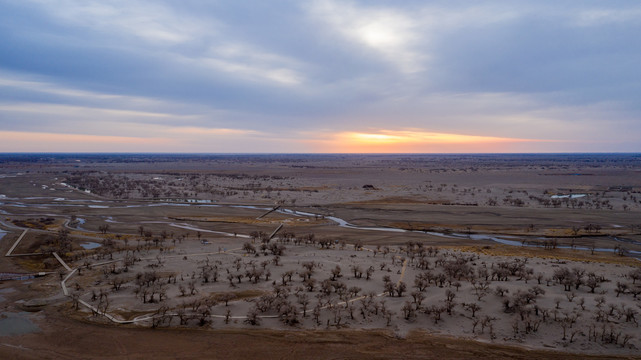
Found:
[[[258,301],[258,295],[274,294],[276,292],[275,283],[277,285],[286,284],[286,288],[292,293],[289,296],[285,296],[284,299],[287,299],[295,307],[295,311],[298,313],[297,320],[291,326],[285,325],[282,319],[279,319],[279,311],[275,308],[269,308],[259,314],[259,316],[265,317],[259,325],[261,328],[282,330],[382,328],[402,337],[412,330],[423,330],[433,334],[465,337],[499,344],[527,344],[529,347],[539,349],[565,349],[586,353],[602,353],[606,351],[609,354],[632,354],[640,346],[639,339],[636,338],[636,333],[638,332],[636,323],[638,300],[632,294],[622,293],[620,296],[615,295],[617,282],[625,282],[630,287],[633,287],[628,274],[635,268],[630,266],[573,262],[563,259],[487,256],[479,253],[442,250],[439,255],[426,257],[426,260],[431,265],[430,270],[424,270],[419,269],[418,259],[408,260],[402,251],[395,247],[390,249],[390,254],[383,257],[381,253],[374,255],[372,251],[368,251],[371,250],[368,248],[362,251],[355,251],[350,248],[345,250],[321,250],[311,245],[289,245],[286,253],[280,257],[278,266],[273,264],[266,266],[266,271],[271,273],[268,281],[261,278],[254,283],[244,279],[239,283],[238,279],[233,276],[245,274],[254,266],[261,269],[261,262],[265,261],[265,259],[270,262],[272,256],[246,256],[242,254],[239,248],[221,254],[217,254],[216,251],[213,254],[209,252],[212,246],[230,249],[234,245],[233,240],[214,242],[211,245],[200,245],[192,240],[188,244],[183,243],[183,246],[177,246],[176,255],[171,252],[157,258],[154,256],[155,251],[143,252],[143,255],[146,255],[143,259],[146,260],[142,260],[138,265],[130,267],[128,275],[104,275],[104,269],[96,268],[93,272],[86,271],[82,276],[72,278],[68,283],[71,288],[74,287],[74,284],[80,283],[80,298],[94,305],[98,304],[98,301],[92,301],[91,294],[98,293],[99,289],[109,293],[110,312],[120,315],[123,320],[141,317],[143,314],[152,314],[162,305],[170,309],[169,313],[176,313],[181,307],[186,308],[187,314],[194,314],[193,319],[188,320],[186,325],[195,325],[198,323],[200,316],[197,311],[190,311],[193,302],[206,301],[221,294],[231,293],[238,298],[231,300],[228,306],[219,301],[217,305],[212,304],[209,308],[212,317],[208,318],[208,320],[211,320],[211,325],[208,326],[215,329],[252,328],[255,326],[244,322],[245,316],[255,306],[256,301]],[[207,253],[209,255],[194,255]],[[134,284],[133,274],[149,271],[149,265],[158,263],[158,259],[162,259],[163,262],[163,265],[155,270],[159,276],[160,274],[168,276],[173,273],[177,279],[175,283],[166,284],[163,287],[167,300],[164,300],[161,304],[144,304],[139,299],[139,296],[135,294],[138,287]],[[457,276],[453,279],[448,277],[448,280],[443,281],[442,286],[440,283],[438,285],[430,283],[424,291],[420,291],[424,299],[421,304],[417,304],[412,295],[416,291],[416,288],[413,288],[413,284],[415,284],[417,276],[421,273],[431,273],[435,276],[443,274],[446,271],[445,266],[436,265],[436,263],[439,261],[451,263],[457,259],[469,261],[470,268],[466,270],[469,271],[469,274]],[[300,275],[305,271],[301,264],[306,262],[314,262],[316,264],[312,278],[318,279],[319,284],[313,291],[309,291],[306,288],[306,284]],[[218,269],[215,270],[220,273],[218,282],[214,283],[212,280],[207,283],[204,282],[200,273],[206,263],[212,264],[213,267]],[[475,289],[475,284],[472,284],[471,281],[482,282],[483,277],[478,278],[476,274],[483,274],[484,269],[488,273],[492,273],[493,269],[498,269],[500,264],[509,264],[510,266],[520,266],[522,264],[523,269],[526,269],[529,274],[508,275],[507,280],[501,281],[492,280],[492,276],[490,276],[486,294],[480,294]],[[331,271],[336,266],[340,266],[342,270],[340,277],[337,277],[337,281],[344,283],[348,289],[357,287],[358,293],[342,298],[338,295],[337,290],[334,289],[330,290],[330,295],[318,298],[322,294],[320,282],[331,278]],[[350,270],[353,267],[365,270],[368,266],[372,266],[375,269],[370,280],[365,280],[365,276],[356,278]],[[118,267],[120,268],[120,265]],[[554,280],[555,272],[560,269],[568,269],[570,271],[578,269],[585,274],[598,274],[605,281],[599,283],[594,293],[585,285],[580,285],[578,289],[575,288],[575,285],[572,285],[570,291],[565,291],[565,287]],[[231,281],[226,279],[228,271],[232,275]],[[287,280],[286,274],[288,272],[293,275],[291,282]],[[403,296],[385,294],[383,277],[386,275],[390,276],[391,281],[394,283],[403,281],[408,285],[408,290]],[[118,277],[129,279],[131,282],[125,283],[120,290],[113,292],[108,283]],[[537,278],[540,280],[537,280]],[[285,280],[284,282],[283,279]],[[169,280],[164,278],[160,280],[162,283],[167,281]],[[450,286],[450,281],[458,281],[460,287],[456,289],[455,285]],[[584,281],[587,281],[587,279],[584,279]],[[195,282],[196,292],[193,295],[189,295],[189,291],[187,291],[188,294],[186,296],[181,296],[179,288],[181,286],[188,288],[190,282]],[[476,285],[478,286],[478,284]],[[505,289],[506,295],[500,296],[496,294],[497,288]],[[534,296],[535,299],[532,300],[531,304],[524,305],[522,313],[517,308],[508,309],[502,303],[504,300],[516,302],[515,299],[518,294],[527,293],[533,291],[533,289],[538,289],[537,291],[541,292],[541,294]],[[448,292],[453,294],[455,305],[451,314],[443,312],[442,309],[440,319],[437,321],[435,313],[430,313],[430,309],[434,306],[441,306],[446,301]],[[298,298],[294,293],[304,294],[309,299],[305,317],[301,314],[302,305],[297,302]],[[385,307],[393,313],[391,320],[388,320],[382,312],[379,314],[363,313],[363,309],[365,309],[364,300],[367,299],[364,295],[367,294],[371,294],[374,304],[372,306],[381,306],[380,304],[385,302]],[[245,298],[245,296],[248,296],[248,298]],[[607,299],[601,307],[603,311],[608,314],[611,313],[611,315],[608,316],[607,320],[596,321],[595,319],[599,313],[597,303],[600,297]],[[348,301],[348,304],[345,301]],[[406,304],[411,304],[410,312],[413,315],[407,316],[404,313],[403,307]],[[472,316],[471,311],[466,310],[464,304],[478,305],[479,310],[475,316]],[[314,315],[312,315],[314,307],[321,309],[317,319],[314,319]],[[224,319],[227,311],[230,312],[229,323],[226,323]],[[625,315],[626,311],[631,311],[630,314],[634,318],[628,319]],[[543,313],[547,314],[547,319],[544,319]],[[524,316],[524,318],[521,316]],[[494,319],[490,322],[492,326],[491,332],[487,328],[481,329],[480,325],[488,317]],[[574,317],[577,318],[574,319]],[[566,325],[567,319],[572,319],[576,323],[568,325],[566,336],[564,337],[563,326]],[[475,326],[474,324],[477,320],[479,323]],[[140,322],[140,324],[151,326],[151,321]],[[528,330],[526,328],[528,324],[536,324],[532,326],[538,326],[538,328],[536,330]],[[178,317],[173,316],[167,318],[166,322],[159,326],[178,325]],[[516,329],[514,326],[516,326]],[[596,341],[592,340],[592,335],[589,334],[591,327],[593,328],[592,332],[598,333]],[[610,330],[617,334],[620,333],[618,345],[604,344],[603,340],[600,340],[602,336],[605,336],[603,332],[609,333]],[[633,338],[623,346],[621,342],[626,335],[630,335]],[[572,339],[570,340],[571,337]]]

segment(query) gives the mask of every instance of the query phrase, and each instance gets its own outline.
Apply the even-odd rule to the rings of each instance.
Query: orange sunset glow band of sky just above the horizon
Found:
[[[542,143],[556,142],[421,130],[300,132],[279,137],[253,130],[188,127],[145,135],[0,131],[0,152],[504,153],[541,151]]]

